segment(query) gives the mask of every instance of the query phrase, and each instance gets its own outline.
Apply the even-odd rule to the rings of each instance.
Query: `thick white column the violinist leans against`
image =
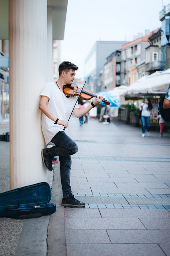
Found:
[[[46,83],[47,0],[9,0],[10,189],[47,181],[39,95]]]

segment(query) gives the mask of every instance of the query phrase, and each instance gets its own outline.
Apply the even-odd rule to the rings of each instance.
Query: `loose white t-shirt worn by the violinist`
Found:
[[[47,103],[47,107],[51,113],[56,116],[59,120],[68,120],[71,111],[75,105],[77,97],[67,98],[63,92],[56,86],[55,82],[46,83],[43,92],[40,96],[47,96],[50,100]],[[78,103],[75,108],[79,108]],[[56,125],[54,121],[42,114],[42,131],[46,141],[46,145],[51,139],[59,132],[63,131],[63,125]],[[65,129],[68,135],[68,127]]]

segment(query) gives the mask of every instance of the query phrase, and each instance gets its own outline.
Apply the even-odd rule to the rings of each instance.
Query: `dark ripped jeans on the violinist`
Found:
[[[71,193],[70,170],[71,155],[77,153],[77,144],[64,131],[58,132],[51,140],[56,146],[50,148],[50,154],[58,155],[60,161],[60,177],[63,197]]]

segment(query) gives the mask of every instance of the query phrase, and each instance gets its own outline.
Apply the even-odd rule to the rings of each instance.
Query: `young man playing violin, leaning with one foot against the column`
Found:
[[[71,155],[78,151],[78,146],[68,135],[69,122],[67,120],[74,107],[76,97],[67,98],[63,93],[63,86],[73,83],[77,69],[78,67],[69,61],[64,61],[59,65],[59,79],[56,82],[46,84],[41,93],[39,108],[43,112],[42,131],[46,145],[50,141],[55,144],[51,148],[42,149],[43,163],[48,170],[53,170],[53,157],[59,156],[63,190],[62,205],[83,207],[85,203],[74,197],[70,186]],[[97,96],[97,99],[84,109],[80,109],[77,103],[73,113],[77,118],[80,118],[102,100],[102,96]],[[63,131],[64,127],[65,131]]]

